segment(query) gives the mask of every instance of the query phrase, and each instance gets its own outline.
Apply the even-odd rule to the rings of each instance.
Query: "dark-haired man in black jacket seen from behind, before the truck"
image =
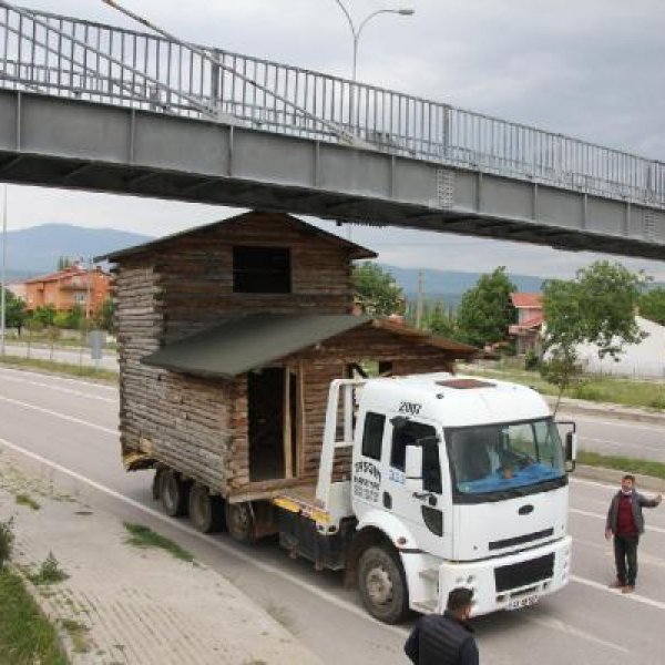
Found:
[[[467,620],[473,605],[473,591],[453,589],[444,614],[418,620],[405,644],[415,665],[478,665],[478,647]]]

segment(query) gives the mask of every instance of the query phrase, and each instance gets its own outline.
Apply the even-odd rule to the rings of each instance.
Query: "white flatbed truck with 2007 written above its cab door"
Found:
[[[226,501],[236,540],[279,534],[293,556],[346,569],[376,618],[443,612],[456,586],[474,614],[535,603],[569,581],[567,471],[542,397],[449,374],[330,386],[316,487]],[[350,449],[350,475],[335,462]],[[335,480],[334,480],[335,479]]]

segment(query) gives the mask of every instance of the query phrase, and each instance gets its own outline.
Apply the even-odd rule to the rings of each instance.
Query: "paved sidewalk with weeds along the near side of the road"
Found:
[[[24,495],[35,510],[17,503]],[[225,577],[161,549],[0,458],[0,521],[13,515],[13,564],[37,572],[51,552],[63,582],[32,586],[72,665],[320,665]]]

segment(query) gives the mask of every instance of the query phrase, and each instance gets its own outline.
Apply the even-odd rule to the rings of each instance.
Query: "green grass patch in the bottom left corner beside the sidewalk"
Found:
[[[0,570],[0,663],[68,663],[55,630],[9,569]]]

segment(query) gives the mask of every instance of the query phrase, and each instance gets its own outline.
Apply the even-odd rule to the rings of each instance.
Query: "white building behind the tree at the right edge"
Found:
[[[635,378],[665,378],[665,327],[636,316],[635,320],[647,337],[641,344],[624,347],[618,360],[611,356],[598,358],[598,347],[581,345],[577,356],[590,374],[608,374]]]

